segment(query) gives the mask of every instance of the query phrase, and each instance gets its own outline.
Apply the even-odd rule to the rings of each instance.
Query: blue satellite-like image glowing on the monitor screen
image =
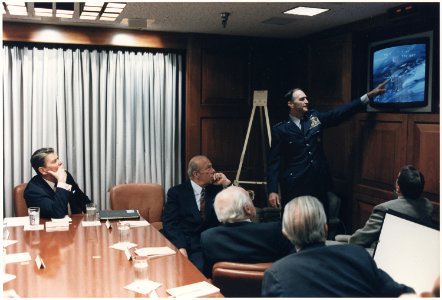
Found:
[[[387,91],[375,98],[376,103],[425,104],[426,48],[417,43],[373,53],[373,86],[388,80]]]

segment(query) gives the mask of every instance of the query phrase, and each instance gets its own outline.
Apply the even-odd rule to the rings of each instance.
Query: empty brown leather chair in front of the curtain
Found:
[[[138,209],[152,226],[161,230],[164,189],[155,183],[119,184],[110,190],[111,209]]]

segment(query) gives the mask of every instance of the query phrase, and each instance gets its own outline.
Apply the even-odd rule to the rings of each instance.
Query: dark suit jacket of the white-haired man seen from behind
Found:
[[[204,273],[211,277],[216,262],[273,262],[294,250],[282,234],[281,222],[227,223],[201,234]]]

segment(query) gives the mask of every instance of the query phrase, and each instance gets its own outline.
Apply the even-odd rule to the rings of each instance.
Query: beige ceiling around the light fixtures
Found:
[[[80,3],[74,17],[34,16],[34,3],[27,3],[28,16],[3,15],[4,21],[75,26],[130,28],[150,31],[207,33],[253,37],[296,38],[339,25],[369,19],[403,2],[128,2],[113,22],[80,20]],[[329,9],[314,16],[294,16],[284,11],[298,6]],[[221,13],[229,12],[225,28]]]

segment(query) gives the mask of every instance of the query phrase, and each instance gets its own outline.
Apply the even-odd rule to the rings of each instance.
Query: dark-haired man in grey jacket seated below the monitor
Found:
[[[396,180],[397,199],[376,205],[365,226],[356,230],[356,232],[350,236],[348,242],[364,247],[375,245],[375,242],[379,239],[385,212],[388,209],[400,212],[424,224],[430,225],[432,222],[431,214],[433,212],[433,205],[428,199],[422,197],[424,184],[424,176],[415,166],[403,166]],[[345,242],[345,237],[341,238],[338,236],[336,239]]]

